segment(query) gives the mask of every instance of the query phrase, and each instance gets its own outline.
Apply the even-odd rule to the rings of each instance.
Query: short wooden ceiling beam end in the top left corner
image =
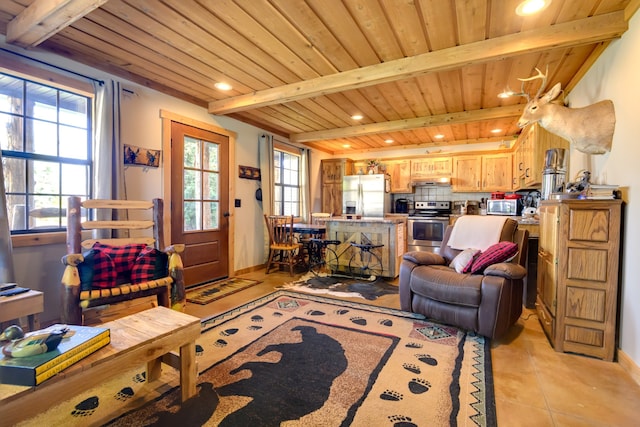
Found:
[[[7,43],[35,47],[107,0],[35,0],[7,24]]]

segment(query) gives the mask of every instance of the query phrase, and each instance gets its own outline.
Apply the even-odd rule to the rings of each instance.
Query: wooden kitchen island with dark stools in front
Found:
[[[406,217],[348,219],[333,217],[326,221],[327,239],[338,240],[336,248],[340,270],[348,271],[349,260],[358,249],[351,242],[384,246],[375,249],[382,260],[382,276],[396,278],[400,261],[407,250]]]

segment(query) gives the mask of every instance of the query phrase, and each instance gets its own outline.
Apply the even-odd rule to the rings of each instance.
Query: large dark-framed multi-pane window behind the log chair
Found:
[[[0,148],[12,234],[61,231],[67,198],[87,198],[92,99],[0,73]]]

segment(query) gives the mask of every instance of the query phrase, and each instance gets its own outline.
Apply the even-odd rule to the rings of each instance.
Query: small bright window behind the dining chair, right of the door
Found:
[[[280,147],[273,149],[273,212],[300,216],[300,155]]]

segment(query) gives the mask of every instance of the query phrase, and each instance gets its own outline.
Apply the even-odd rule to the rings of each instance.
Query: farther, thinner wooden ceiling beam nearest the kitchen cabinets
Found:
[[[416,117],[414,119],[393,120],[390,122],[371,123],[338,129],[301,132],[289,135],[289,139],[293,142],[310,142],[323,139],[351,138],[362,135],[407,131],[431,126],[456,125],[483,120],[519,117],[523,110],[523,104],[516,104],[507,107],[485,108],[481,110]]]

